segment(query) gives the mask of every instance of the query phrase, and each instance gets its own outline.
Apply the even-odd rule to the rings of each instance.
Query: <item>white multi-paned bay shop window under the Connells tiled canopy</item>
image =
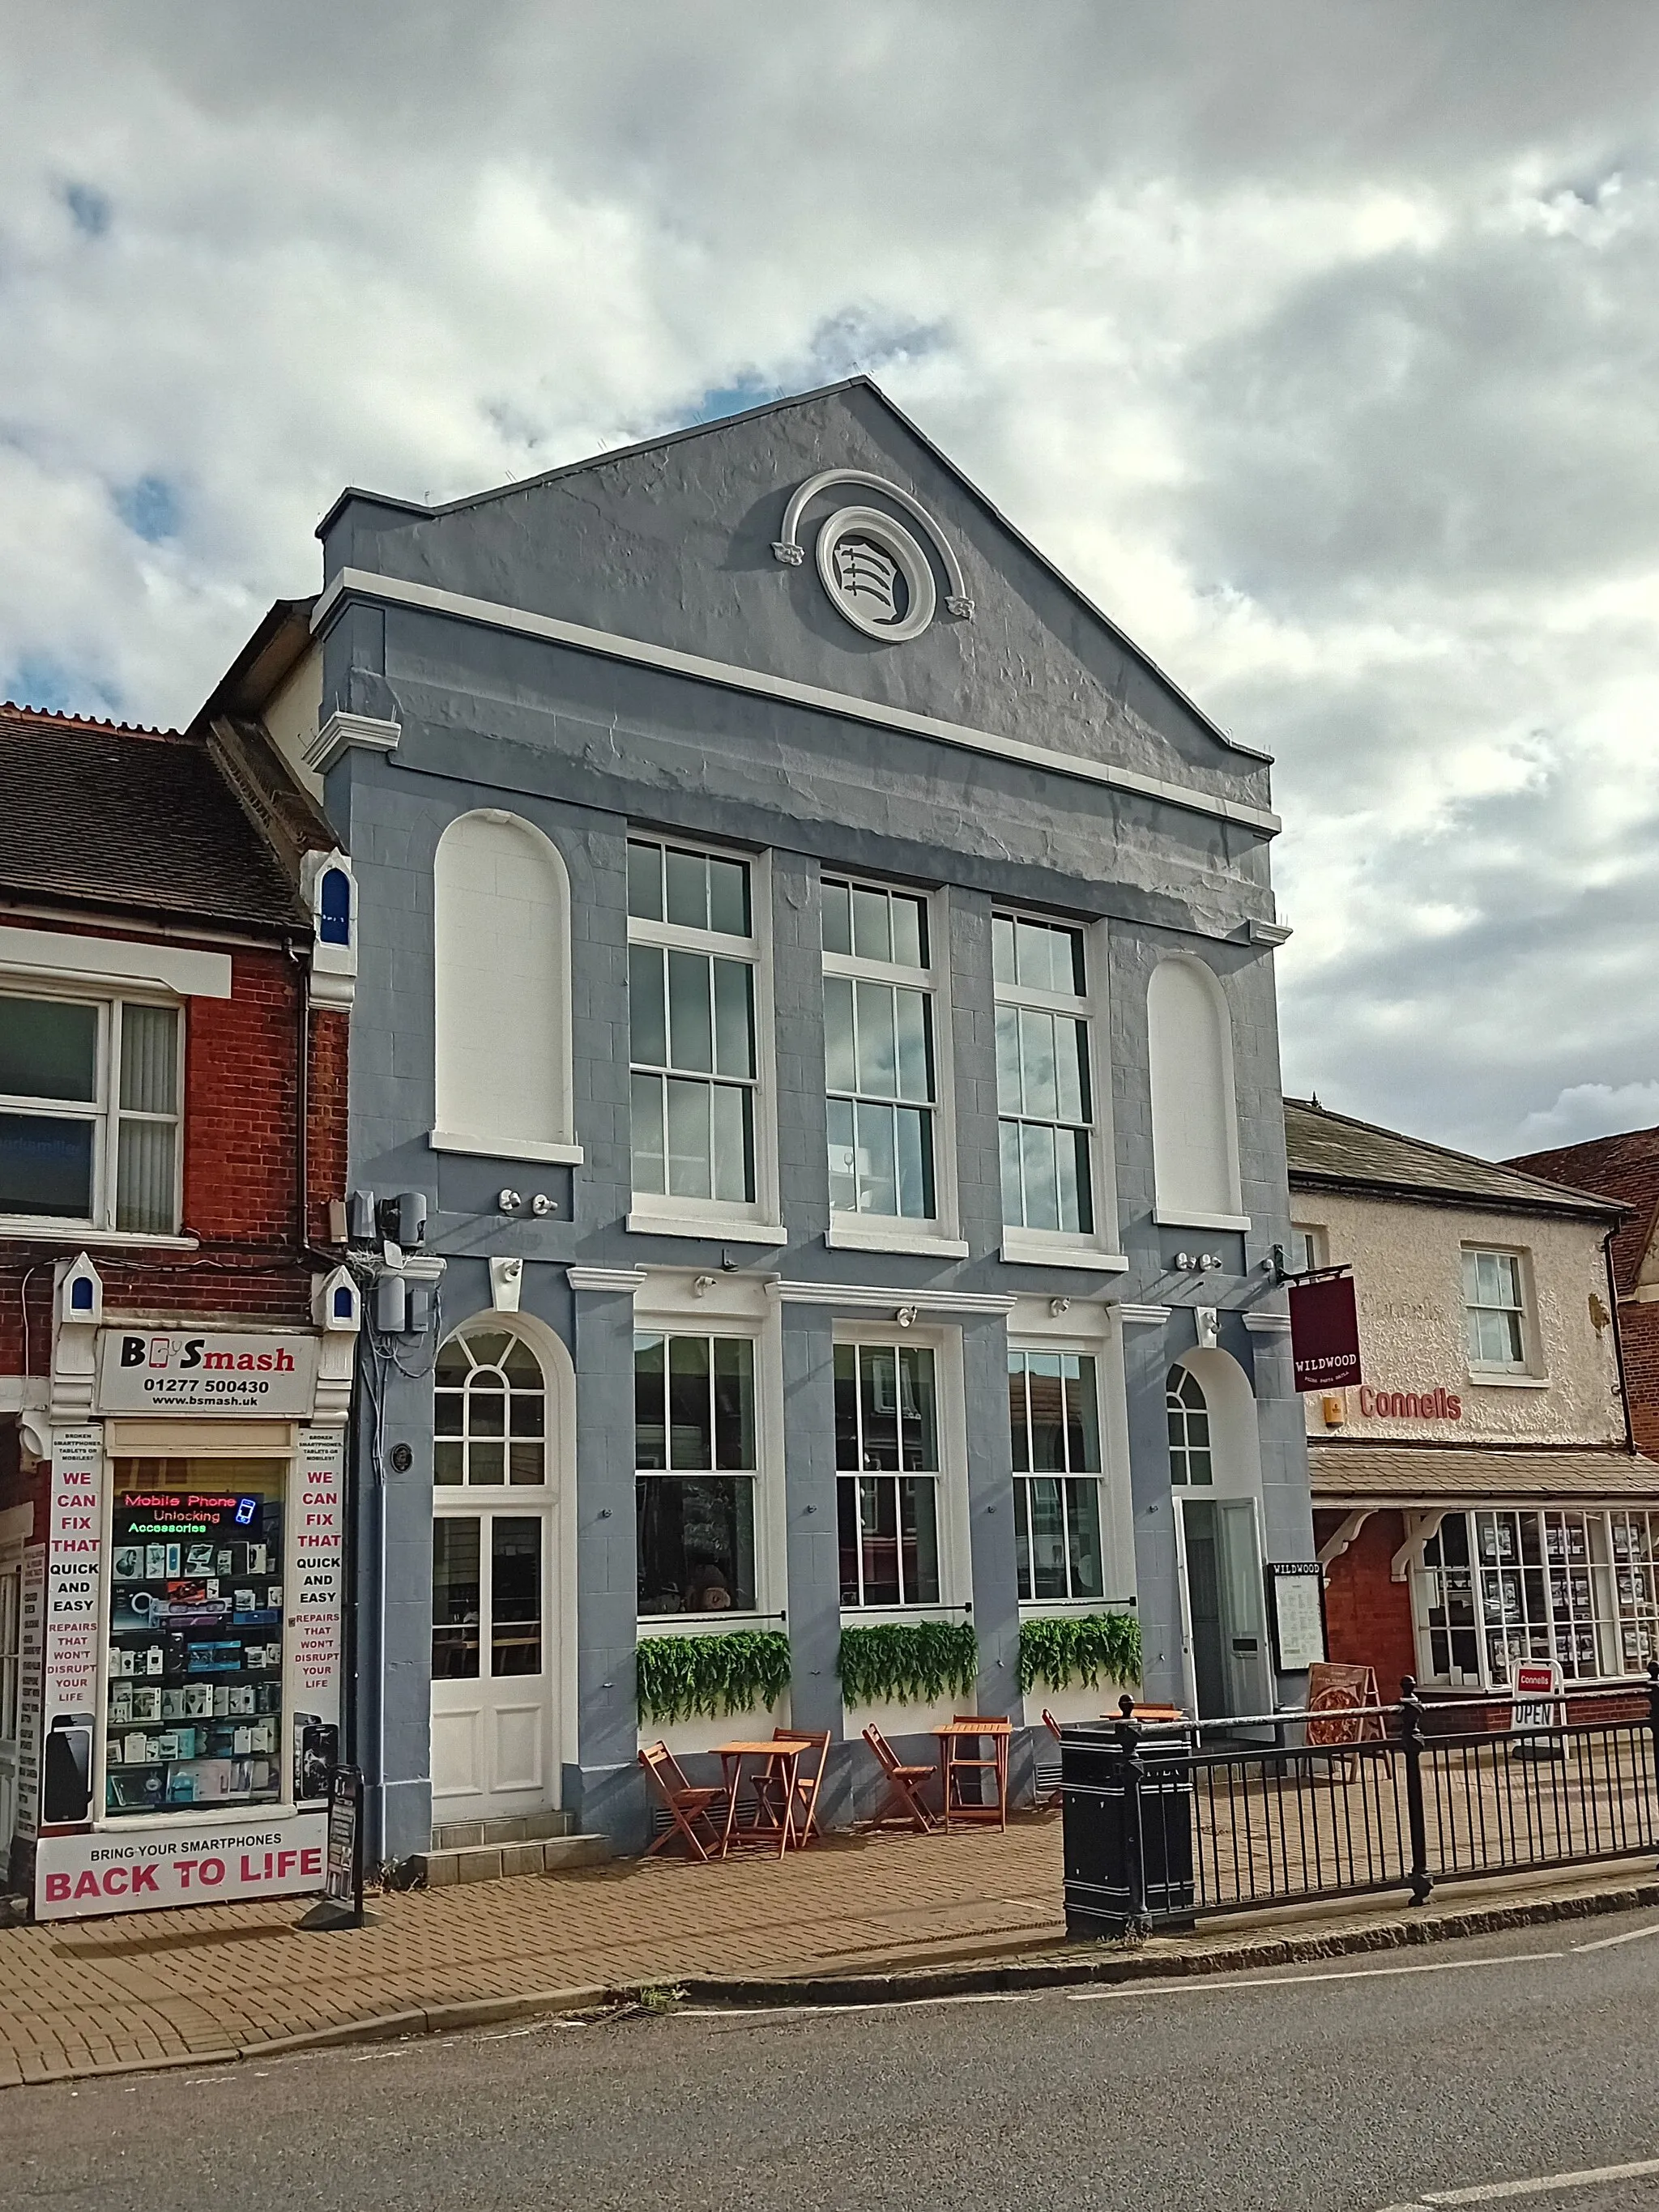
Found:
[[[1447,1513],[1413,1575],[1425,1681],[1504,1690],[1528,1659],[1568,1681],[1659,1657],[1659,1513]]]

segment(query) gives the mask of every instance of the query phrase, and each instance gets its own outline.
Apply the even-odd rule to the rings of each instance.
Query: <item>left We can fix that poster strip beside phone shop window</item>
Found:
[[[58,1429],[46,1520],[46,1617],[40,1666],[38,1834],[84,1827],[93,1814],[97,1730],[102,1429]]]

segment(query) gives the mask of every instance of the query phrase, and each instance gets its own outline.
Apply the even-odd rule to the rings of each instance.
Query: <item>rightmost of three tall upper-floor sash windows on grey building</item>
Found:
[[[1002,1259],[1124,1267],[1113,1186],[1106,931],[991,916]]]

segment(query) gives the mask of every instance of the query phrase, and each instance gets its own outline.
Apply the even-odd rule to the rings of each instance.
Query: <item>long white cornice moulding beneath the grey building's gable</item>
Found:
[[[615,630],[591,630],[582,622],[560,622],[553,615],[533,615],[522,606],[502,606],[498,599],[473,599],[460,591],[438,591],[436,584],[407,584],[403,577],[376,575],[372,568],[341,568],[312,611],[312,633],[323,630],[332,622],[341,599],[349,595],[378,599],[387,606],[416,606],[429,615],[451,615],[456,622],[478,622],[491,630],[513,630],[520,637],[542,637],[553,646],[597,653],[611,661],[635,661],[641,668],[661,668],[668,675],[692,677],[697,684],[719,684],[723,690],[754,692],[761,699],[785,699],[790,706],[814,708],[821,714],[841,714],[847,721],[872,721],[883,730],[902,730],[907,737],[933,737],[945,745],[962,745],[967,752],[989,752],[1004,761],[1020,761],[1024,768],[1040,768],[1048,776],[1104,783],[1108,790],[1133,792],[1137,799],[1157,799],[1170,807],[1186,807],[1190,814],[1210,814],[1217,821],[1241,823],[1245,830],[1261,830],[1265,836],[1276,836],[1283,827],[1270,807],[1252,807],[1241,799],[1223,799],[1219,792],[1190,790],[1164,776],[1144,776],[1133,768],[1091,761],[1079,752],[1051,752],[1046,745],[1029,745],[1024,739],[1000,737],[995,730],[973,730],[962,721],[942,721],[938,714],[914,714],[909,708],[885,706],[880,699],[860,699],[856,692],[834,692],[821,684],[796,684],[792,677],[772,677],[759,668],[710,661],[701,653],[653,646],[641,637],[619,637]],[[369,728],[376,726],[369,723]],[[378,728],[396,726],[383,723]],[[321,745],[323,739],[319,737],[316,743]],[[312,761],[310,765],[316,768],[319,763]]]

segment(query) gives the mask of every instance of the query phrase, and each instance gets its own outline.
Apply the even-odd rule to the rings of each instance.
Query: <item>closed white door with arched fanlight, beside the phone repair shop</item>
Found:
[[[462,1329],[438,1354],[431,1522],[431,1818],[560,1801],[549,1380],[531,1345]]]

